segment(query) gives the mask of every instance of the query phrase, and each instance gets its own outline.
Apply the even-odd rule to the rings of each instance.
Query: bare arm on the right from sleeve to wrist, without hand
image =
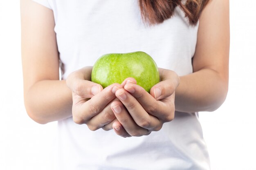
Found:
[[[210,0],[200,16],[193,73],[180,77],[175,108],[213,111],[225,100],[229,74],[229,0]]]

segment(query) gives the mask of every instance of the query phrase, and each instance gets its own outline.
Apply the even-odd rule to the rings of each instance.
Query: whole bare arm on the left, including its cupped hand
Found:
[[[115,84],[94,97],[102,87],[90,82],[90,66],[70,74],[67,81],[59,80],[53,11],[31,0],[20,2],[24,101],[29,117],[46,124],[73,116],[76,123],[85,123],[91,130],[104,129],[115,119],[108,105],[115,98]]]

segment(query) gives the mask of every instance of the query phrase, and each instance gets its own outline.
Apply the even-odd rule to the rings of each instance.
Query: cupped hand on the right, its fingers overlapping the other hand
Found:
[[[163,68],[159,68],[159,74],[161,82],[150,89],[150,94],[133,78],[126,79],[124,88],[116,91],[120,101],[112,102],[111,109],[118,120],[112,124],[117,135],[149,135],[174,119],[175,89],[180,78],[175,72]]]

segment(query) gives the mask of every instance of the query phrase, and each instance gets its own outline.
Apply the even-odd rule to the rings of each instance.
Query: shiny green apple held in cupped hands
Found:
[[[92,82],[103,88],[121,84],[124,79],[133,77],[137,84],[148,93],[159,82],[159,71],[155,61],[147,53],[110,53],[102,55],[92,68]]]

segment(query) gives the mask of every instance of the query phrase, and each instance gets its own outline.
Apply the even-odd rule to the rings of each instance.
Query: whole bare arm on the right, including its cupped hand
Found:
[[[142,136],[161,129],[164,122],[174,118],[174,95],[175,110],[181,112],[213,111],[224,102],[228,91],[228,0],[211,0],[202,12],[192,64],[193,73],[180,77],[180,81],[171,71],[160,69],[164,81],[151,88],[151,96],[136,84],[118,90],[121,102],[111,105],[118,120],[112,124],[117,135]],[[160,96],[154,93],[156,88]]]

